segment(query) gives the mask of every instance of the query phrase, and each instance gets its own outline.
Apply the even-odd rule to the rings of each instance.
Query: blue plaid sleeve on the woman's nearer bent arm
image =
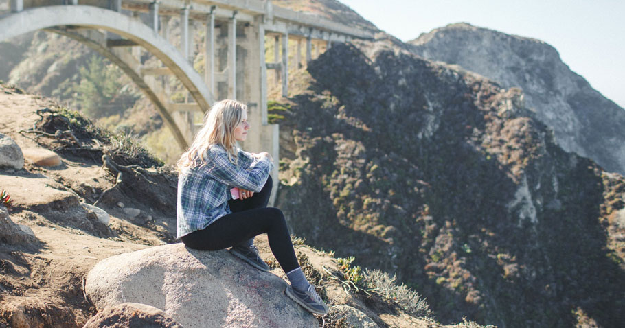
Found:
[[[231,187],[259,192],[267,181],[273,163],[267,158],[253,161],[247,169],[231,163],[223,148],[211,147],[208,150],[207,174],[215,180]]]

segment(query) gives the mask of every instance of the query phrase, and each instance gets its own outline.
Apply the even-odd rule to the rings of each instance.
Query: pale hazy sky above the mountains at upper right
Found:
[[[625,108],[624,0],[339,1],[403,41],[458,22],[543,40],[572,71]]]

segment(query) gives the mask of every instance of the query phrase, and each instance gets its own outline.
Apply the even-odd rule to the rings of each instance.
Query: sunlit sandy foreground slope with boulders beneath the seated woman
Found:
[[[2,84],[0,108],[10,197],[0,204],[0,327],[482,327],[441,325],[393,276],[294,237],[332,306],[312,316],[284,295],[266,237],[257,244],[272,273],[176,243],[177,175],[130,139]]]

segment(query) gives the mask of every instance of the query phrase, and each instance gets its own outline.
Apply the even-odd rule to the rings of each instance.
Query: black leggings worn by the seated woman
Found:
[[[271,188],[272,180],[269,176],[260,192],[245,200],[229,200],[232,213],[224,215],[205,229],[181,237],[182,242],[197,250],[220,250],[266,233],[271,252],[282,270],[290,272],[299,267],[284,214],[275,207],[266,207]]]

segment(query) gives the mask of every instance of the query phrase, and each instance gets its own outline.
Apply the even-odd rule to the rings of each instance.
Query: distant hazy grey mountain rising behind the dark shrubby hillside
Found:
[[[571,71],[554,47],[466,23],[409,43],[423,58],[460,65],[505,88],[520,87],[532,117],[554,130],[562,148],[625,174],[625,110]]]

